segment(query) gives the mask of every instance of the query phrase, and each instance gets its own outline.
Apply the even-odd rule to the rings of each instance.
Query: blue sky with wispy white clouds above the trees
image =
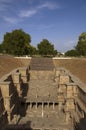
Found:
[[[30,34],[33,46],[48,39],[66,52],[86,32],[86,0],[0,0],[0,43],[15,29]]]

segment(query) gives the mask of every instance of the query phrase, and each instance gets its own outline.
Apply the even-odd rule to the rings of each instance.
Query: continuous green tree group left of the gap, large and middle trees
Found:
[[[40,43],[37,44],[37,47],[32,46],[30,43],[30,34],[25,33],[22,29],[16,29],[12,32],[7,32],[4,35],[3,41],[0,44],[0,53],[14,56],[57,55],[57,50],[54,49],[54,44],[49,42],[47,39],[43,39]]]

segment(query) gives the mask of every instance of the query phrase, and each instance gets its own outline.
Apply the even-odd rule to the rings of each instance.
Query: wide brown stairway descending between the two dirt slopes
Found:
[[[32,58],[30,62],[31,70],[53,70],[52,58]]]

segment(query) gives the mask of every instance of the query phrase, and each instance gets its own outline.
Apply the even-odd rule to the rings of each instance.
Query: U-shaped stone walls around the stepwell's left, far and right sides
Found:
[[[58,85],[59,110],[64,111],[66,122],[71,122],[75,130],[85,130],[86,86],[64,68],[53,71],[29,71],[18,68],[0,79],[0,128],[11,124],[19,114],[20,100],[25,85],[30,79],[52,79]],[[4,125],[5,124],[5,125]]]

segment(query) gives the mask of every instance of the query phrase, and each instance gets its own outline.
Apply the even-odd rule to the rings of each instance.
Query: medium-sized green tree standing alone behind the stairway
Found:
[[[56,55],[57,51],[54,50],[54,45],[51,44],[47,39],[43,39],[38,45],[38,52],[42,56]]]

